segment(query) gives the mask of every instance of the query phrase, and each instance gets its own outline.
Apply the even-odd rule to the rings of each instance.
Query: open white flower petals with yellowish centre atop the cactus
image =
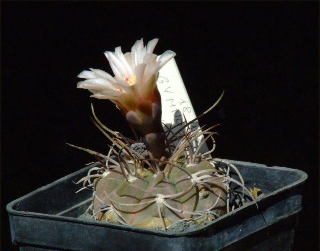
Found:
[[[93,93],[91,97],[111,100],[124,113],[134,111],[141,101],[158,103],[158,71],[175,53],[167,50],[157,60],[157,55],[152,53],[157,41],[153,39],[143,47],[142,39],[138,40],[131,52],[125,54],[121,47],[116,47],[114,52],[106,51],[104,54],[114,77],[105,71],[89,68],[90,71],[84,70],[77,76],[86,79],[78,82],[77,88],[88,89]]]

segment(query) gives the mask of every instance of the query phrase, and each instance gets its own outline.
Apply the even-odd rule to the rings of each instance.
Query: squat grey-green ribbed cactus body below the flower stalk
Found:
[[[97,213],[98,220],[154,229],[182,219],[195,219],[207,210],[218,216],[224,214],[225,187],[222,179],[211,172],[213,165],[205,160],[191,165],[176,164],[180,168],[167,166],[158,173],[138,167],[129,178],[124,177],[119,167],[105,172],[94,184],[93,210],[105,209]],[[134,170],[130,161],[127,166]],[[203,173],[211,181],[196,183],[196,177]],[[197,223],[204,220],[208,218],[200,217]]]

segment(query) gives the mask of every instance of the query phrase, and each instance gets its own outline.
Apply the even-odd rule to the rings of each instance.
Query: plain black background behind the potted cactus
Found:
[[[308,174],[295,250],[317,250],[318,1],[1,1],[1,250],[11,247],[8,202],[94,161],[65,142],[106,153],[90,102],[130,136],[114,105],[76,89],[76,76],[111,73],[103,52],[141,37],[159,38],[156,54],[176,52],[196,114],[225,90],[200,119],[221,123],[215,157]]]

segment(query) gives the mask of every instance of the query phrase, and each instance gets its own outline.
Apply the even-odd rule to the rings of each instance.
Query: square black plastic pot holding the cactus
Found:
[[[77,251],[289,251],[302,209],[302,184],[307,175],[285,167],[230,161],[246,187],[263,192],[195,231],[172,233],[82,220],[90,191],[75,192],[77,181],[92,166],[39,188],[7,205],[12,244],[26,250]]]

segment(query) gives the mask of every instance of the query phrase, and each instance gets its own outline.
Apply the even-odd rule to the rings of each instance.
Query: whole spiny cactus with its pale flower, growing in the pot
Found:
[[[89,210],[94,219],[165,231],[179,221],[201,225],[229,212],[230,182],[242,187],[242,193],[246,189],[242,179],[239,183],[229,176],[231,168],[240,177],[233,165],[226,163],[220,168],[218,163],[223,160],[208,158],[214,150],[215,132],[211,130],[215,126],[192,131],[189,125],[196,118],[179,125],[182,128],[175,132],[174,127],[162,129],[156,80],[159,69],[175,53],[166,51],[156,60],[152,53],[156,42],[153,39],[143,47],[142,39],[138,40],[126,54],[120,47],[113,53],[105,52],[114,77],[97,69],[78,75],[86,79],[78,83],[78,88],[89,89],[92,97],[116,104],[136,140],[104,126],[92,107],[93,123],[112,142],[108,154],[71,146],[92,154],[101,164],[78,181],[83,189],[93,190]],[[200,153],[201,144],[193,144],[202,136],[203,142],[213,141],[213,148],[206,153]]]

